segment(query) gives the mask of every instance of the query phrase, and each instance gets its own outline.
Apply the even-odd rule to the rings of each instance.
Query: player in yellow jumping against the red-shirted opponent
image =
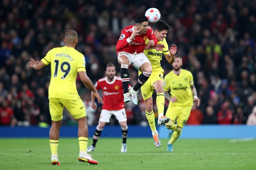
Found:
[[[164,46],[159,51],[156,50],[157,47],[159,47],[158,45],[155,47],[156,49],[149,49],[149,48],[152,48],[149,45],[146,45],[144,49],[144,54],[147,56],[148,60],[152,65],[152,74],[148,78],[148,81],[140,88],[140,90],[141,90],[143,99],[145,101],[146,117],[148,119],[148,123],[152,130],[152,135],[153,135],[156,147],[160,147],[161,142],[159,140],[158,132],[156,130],[155,114],[153,112],[153,99],[152,99],[152,94],[154,92],[153,89],[156,89],[158,125],[163,125],[164,123],[167,123],[170,121],[170,118],[164,116],[164,90],[163,90],[164,70],[162,69],[160,64],[163,54],[167,59],[167,61],[172,64],[177,51],[176,45],[172,45],[170,50],[168,49],[168,44],[165,40],[165,37],[169,29],[170,29],[170,26],[166,22],[162,20],[159,20],[158,22],[156,22],[154,25],[154,33],[158,40],[158,45],[164,44]],[[147,39],[145,43],[149,44],[149,40]],[[139,75],[140,74],[141,72],[139,71]]]

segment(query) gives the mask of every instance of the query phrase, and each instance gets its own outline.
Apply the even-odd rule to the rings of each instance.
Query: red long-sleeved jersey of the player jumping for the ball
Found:
[[[146,33],[136,35],[136,37],[130,43],[128,43],[127,38],[129,38],[132,35],[132,32],[134,31],[134,27],[135,25],[127,26],[122,30],[120,38],[116,44],[117,54],[120,51],[124,51],[130,54],[134,54],[135,52],[137,54],[143,53],[143,49],[145,47],[145,41],[147,39],[154,40],[155,45],[157,44],[158,40],[154,34],[153,29],[150,26],[148,26],[148,30]]]

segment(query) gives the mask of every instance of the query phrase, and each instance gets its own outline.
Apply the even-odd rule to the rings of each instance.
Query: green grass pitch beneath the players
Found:
[[[100,138],[92,152],[99,165],[88,165],[77,160],[77,138],[60,138],[61,165],[53,166],[47,138],[0,138],[0,169],[256,169],[256,140],[179,139],[171,153],[166,152],[167,141],[156,148],[153,138],[128,138],[127,153],[121,153],[121,138]]]

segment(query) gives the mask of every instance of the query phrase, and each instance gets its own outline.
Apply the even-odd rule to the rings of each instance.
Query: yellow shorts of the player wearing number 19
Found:
[[[79,119],[86,116],[84,103],[78,96],[75,100],[50,98],[49,108],[52,121],[60,121],[63,116],[63,109],[66,107],[69,113],[74,116],[75,119]]]

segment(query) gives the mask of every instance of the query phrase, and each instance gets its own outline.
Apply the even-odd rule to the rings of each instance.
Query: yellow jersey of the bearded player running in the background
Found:
[[[190,71],[181,69],[180,75],[176,75],[173,71],[164,77],[164,91],[171,90],[171,97],[176,97],[177,101],[171,105],[192,106],[193,94],[190,85],[194,84],[193,75]]]

